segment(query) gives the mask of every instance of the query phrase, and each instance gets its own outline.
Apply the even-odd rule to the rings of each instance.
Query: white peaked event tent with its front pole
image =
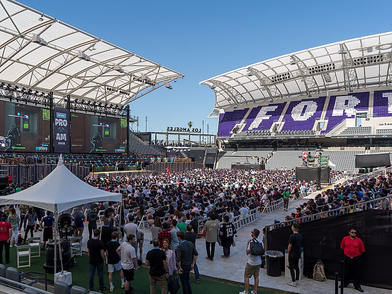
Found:
[[[110,193],[86,184],[76,177],[64,164],[60,155],[57,167],[42,181],[30,188],[0,197],[0,205],[25,204],[52,211],[55,219],[54,251],[56,252],[58,214],[78,205],[99,202],[121,202],[120,193]],[[54,254],[56,269],[56,254]]]

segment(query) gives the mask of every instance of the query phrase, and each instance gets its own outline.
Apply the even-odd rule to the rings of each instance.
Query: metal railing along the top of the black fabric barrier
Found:
[[[363,211],[368,209],[391,209],[391,198],[392,196],[385,196],[382,198],[376,198],[369,201],[359,202],[348,206],[343,206],[337,209],[328,210],[325,212],[320,212],[316,214],[312,214],[309,216],[304,216],[301,218],[293,219],[290,221],[282,221],[274,224],[267,225],[266,228],[268,231],[280,228],[283,226],[293,225],[294,223],[301,223],[301,222],[308,222],[308,221],[315,221],[319,219],[324,219],[327,217],[337,216],[348,214],[357,211]],[[388,201],[385,201],[388,200]],[[388,203],[388,204],[386,204]]]

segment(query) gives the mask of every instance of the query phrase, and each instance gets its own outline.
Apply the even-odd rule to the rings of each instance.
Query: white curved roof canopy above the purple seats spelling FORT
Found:
[[[327,91],[392,84],[392,32],[346,40],[271,58],[200,82],[220,109]]]

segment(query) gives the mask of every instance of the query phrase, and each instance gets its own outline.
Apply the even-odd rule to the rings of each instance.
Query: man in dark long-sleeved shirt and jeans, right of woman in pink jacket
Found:
[[[189,273],[191,270],[194,270],[198,253],[195,245],[185,240],[184,232],[177,232],[177,238],[180,244],[177,246],[176,261],[182,285],[182,293],[192,294]]]

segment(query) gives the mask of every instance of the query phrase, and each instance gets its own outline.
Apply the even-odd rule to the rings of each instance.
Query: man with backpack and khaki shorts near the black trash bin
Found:
[[[250,233],[252,239],[248,240],[246,245],[246,255],[248,255],[248,262],[245,266],[244,283],[245,290],[240,294],[248,294],[249,292],[249,279],[254,277],[254,290],[251,294],[257,294],[257,288],[259,286],[259,273],[260,268],[263,264],[262,256],[264,254],[264,244],[259,239],[260,230],[253,229]]]

